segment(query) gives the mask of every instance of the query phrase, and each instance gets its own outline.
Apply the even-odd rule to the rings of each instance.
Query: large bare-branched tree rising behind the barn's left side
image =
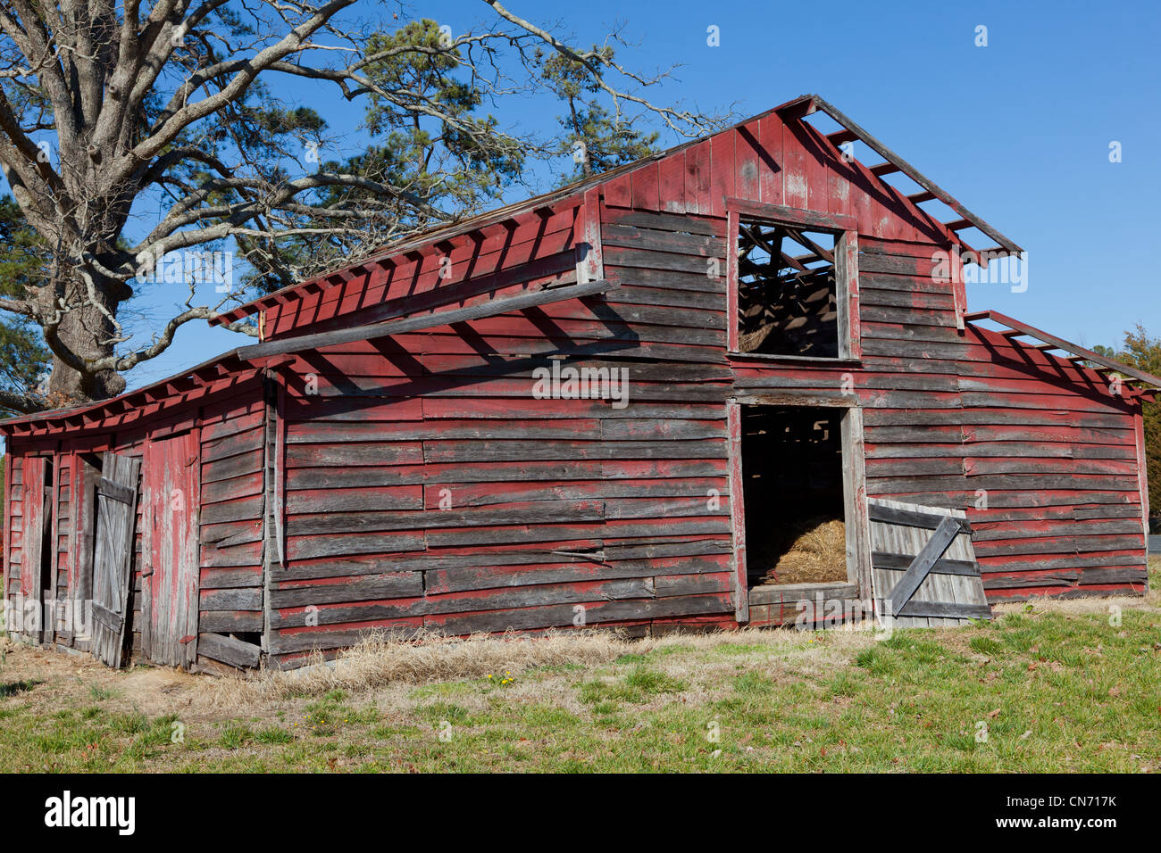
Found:
[[[435,26],[433,35],[424,22],[392,38],[382,22],[356,20],[362,7],[382,14],[372,0],[0,0],[0,166],[48,259],[38,283],[0,297],[0,310],[39,327],[52,354],[45,386],[0,390],[0,409],[118,393],[122,374],[165,352],[183,324],[244,298],[235,287],[200,302],[185,281],[183,304],[134,345],[125,304],[164,277],[159,259],[170,253],[229,244],[259,277],[284,283],[308,272],[284,247],[322,240],[345,254],[354,239],[366,251],[495,196],[496,187],[448,175],[474,161],[518,172],[529,153],[558,149],[478,109],[542,85],[538,52],[579,63],[616,122],[648,113],[685,136],[720,126],[721,117],[650,102],[644,92],[664,73],[641,75],[608,49],[574,49],[482,2],[491,24],[478,30]],[[326,124],[280,102],[267,84],[277,78],[366,99],[388,132],[437,130],[426,150],[401,153],[390,136],[374,156],[304,166]],[[471,96],[448,99],[440,86],[452,85]],[[454,162],[433,160],[437,150]]]

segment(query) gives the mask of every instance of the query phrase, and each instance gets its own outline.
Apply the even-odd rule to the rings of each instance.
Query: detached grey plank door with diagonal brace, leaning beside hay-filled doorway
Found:
[[[886,624],[991,619],[964,511],[871,498],[867,512],[875,613]]]

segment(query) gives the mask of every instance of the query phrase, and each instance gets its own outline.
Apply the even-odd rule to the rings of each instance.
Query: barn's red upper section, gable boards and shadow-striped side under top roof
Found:
[[[824,135],[809,123],[823,114],[843,129]],[[884,161],[860,162],[849,147],[856,140]],[[894,173],[918,191],[903,195],[885,180]],[[866,237],[956,246],[968,258],[975,250],[961,232],[969,229],[995,240],[985,250],[991,256],[1021,251],[830,103],[805,95],[706,139],[410,238],[211,323],[259,313],[262,338],[276,339],[591,280],[603,258],[601,208],[724,219],[728,200],[851,217]],[[957,218],[940,223],[920,207],[928,201]]]

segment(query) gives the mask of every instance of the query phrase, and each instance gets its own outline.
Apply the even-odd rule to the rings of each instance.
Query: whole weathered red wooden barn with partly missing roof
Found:
[[[0,425],[8,629],[286,667],[378,628],[778,624],[887,599],[896,527],[945,540],[913,624],[987,612],[957,577],[1142,592],[1159,379],[968,313],[973,232],[1021,251],[803,96],[260,298],[215,320],[258,345]],[[817,519],[839,576],[789,583]]]

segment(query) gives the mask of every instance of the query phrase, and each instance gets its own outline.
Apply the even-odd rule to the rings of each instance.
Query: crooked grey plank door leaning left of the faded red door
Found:
[[[93,657],[120,668],[132,581],[134,522],[140,462],[106,451],[96,480],[93,555]]]

